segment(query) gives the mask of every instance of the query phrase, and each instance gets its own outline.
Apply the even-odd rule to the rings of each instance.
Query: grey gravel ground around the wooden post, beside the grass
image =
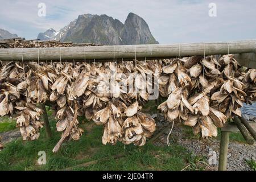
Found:
[[[158,127],[163,127],[168,124],[167,121],[164,121],[163,115],[157,114],[152,115],[155,117],[156,125]],[[207,160],[212,159],[213,155],[217,156],[216,164],[207,166],[207,170],[217,170],[218,169],[218,155],[220,150],[220,141],[215,138],[208,139],[189,139],[184,137],[184,127],[176,126],[172,130],[170,141],[176,142],[181,146],[187,148],[188,151],[192,152],[195,155],[205,156]],[[157,140],[158,144],[167,145],[166,138],[170,130],[167,130],[166,133],[162,134]],[[155,142],[155,143],[157,143]],[[212,152],[210,152],[212,151]],[[256,144],[250,146],[245,143],[239,142],[229,142],[228,150],[228,171],[250,171],[251,168],[247,165],[245,160],[256,160]],[[213,160],[211,160],[213,161]]]

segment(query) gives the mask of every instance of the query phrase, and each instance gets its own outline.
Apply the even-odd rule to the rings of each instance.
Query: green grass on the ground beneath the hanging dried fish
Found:
[[[49,115],[51,115],[49,113]],[[88,167],[76,167],[75,170],[201,170],[197,165],[197,156],[187,152],[184,147],[173,143],[171,147],[146,144],[143,147],[132,144],[124,146],[118,142],[115,146],[103,145],[101,137],[103,127],[93,122],[79,118],[85,130],[80,140],[63,143],[57,154],[52,148],[61,137],[56,131],[55,119],[50,118],[53,137],[47,139],[44,129],[36,141],[22,141],[21,138],[6,144],[5,150],[0,151],[0,170],[59,170],[92,160],[99,160]],[[56,132],[55,132],[56,131]],[[37,163],[39,151],[46,152],[46,165]],[[123,158],[114,159],[117,154],[125,154]],[[194,165],[195,164],[195,165]]]

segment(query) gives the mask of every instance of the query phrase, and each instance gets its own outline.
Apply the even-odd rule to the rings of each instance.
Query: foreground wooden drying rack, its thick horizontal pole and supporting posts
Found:
[[[49,48],[3,48],[0,49],[1,61],[113,61],[113,60],[153,60],[169,59],[178,56],[224,55],[232,53],[235,59],[245,67],[256,69],[256,39],[236,42],[183,43],[183,44],[138,44],[126,46],[92,46],[77,44],[76,47]],[[46,113],[43,104],[44,113]],[[44,120],[48,121],[47,114]],[[243,118],[234,119],[240,129]],[[45,121],[46,122],[46,121]],[[47,122],[46,122],[47,123]],[[245,124],[245,123],[243,123]],[[255,123],[250,124],[255,129]],[[221,129],[219,170],[226,170],[229,133],[236,132],[237,127],[226,125]],[[241,130],[240,130],[241,131]],[[242,133],[242,131],[241,131]],[[243,133],[242,133],[243,134]],[[255,135],[255,131],[254,131]]]

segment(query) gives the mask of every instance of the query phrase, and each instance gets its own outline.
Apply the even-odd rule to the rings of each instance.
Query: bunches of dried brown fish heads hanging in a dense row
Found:
[[[143,146],[156,124],[141,111],[151,96],[166,98],[158,109],[170,122],[194,134],[216,137],[217,127],[241,116],[243,102],[255,100],[255,69],[242,72],[233,55],[115,63],[8,63],[0,72],[0,115],[17,114],[23,140],[39,137],[42,110],[50,102],[61,138],[78,140],[77,117],[104,126],[103,144]],[[155,92],[156,90],[156,92]],[[153,98],[156,99],[156,98]]]

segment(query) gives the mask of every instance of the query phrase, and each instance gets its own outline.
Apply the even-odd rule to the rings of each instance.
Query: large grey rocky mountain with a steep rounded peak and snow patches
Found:
[[[59,32],[51,28],[40,33],[38,39],[105,45],[158,44],[147,23],[134,13],[127,16],[124,24],[108,15],[79,15]]]

